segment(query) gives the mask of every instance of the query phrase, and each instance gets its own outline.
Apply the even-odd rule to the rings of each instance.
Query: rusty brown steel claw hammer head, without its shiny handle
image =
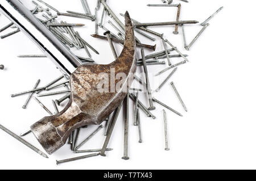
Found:
[[[63,111],[44,117],[31,126],[32,132],[47,151],[52,154],[66,142],[76,128],[89,124],[101,124],[122,103],[127,95],[123,92],[133,80],[136,71],[134,29],[128,12],[125,14],[125,44],[121,55],[108,65],[81,65],[71,74],[71,99]],[[121,89],[110,92],[110,69],[115,75],[125,73],[127,78]],[[109,75],[109,92],[99,92],[97,85],[102,81],[101,73]],[[114,86],[119,80],[115,79]]]

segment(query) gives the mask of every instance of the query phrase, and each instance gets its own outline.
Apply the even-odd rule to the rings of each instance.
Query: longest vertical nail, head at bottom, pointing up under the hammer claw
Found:
[[[128,134],[129,134],[129,94],[125,98],[125,131],[123,136],[123,157],[122,159],[129,159],[128,156]]]

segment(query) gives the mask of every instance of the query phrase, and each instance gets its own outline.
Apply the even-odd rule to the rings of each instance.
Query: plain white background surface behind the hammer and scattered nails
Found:
[[[30,0],[22,1],[30,9],[34,5]],[[46,1],[59,11],[73,10],[83,12],[80,1]],[[162,100],[183,117],[167,111],[170,151],[164,150],[163,107],[156,104],[153,111],[157,119],[144,116],[141,111],[143,143],[138,143],[138,128],[132,125],[133,102],[130,102],[130,134],[129,161],[121,159],[123,154],[123,115],[119,115],[114,128],[109,148],[113,151],[107,157],[94,157],[56,166],[56,159],[65,159],[83,154],[75,154],[69,145],[49,155],[49,159],[34,153],[13,137],[0,131],[0,169],[256,169],[256,122],[255,122],[255,92],[256,62],[254,57],[255,43],[255,5],[254,1],[231,0],[190,0],[181,1],[181,19],[199,20],[203,22],[219,7],[224,9],[210,20],[210,26],[200,39],[193,45],[191,51],[183,48],[181,33],[174,35],[174,27],[154,27],[152,30],[163,32],[164,36],[177,46],[184,54],[189,54],[189,63],[178,68],[169,82],[174,81],[177,90],[183,98],[188,112],[181,107],[170,85],[165,85],[155,98]],[[94,12],[96,0],[88,0],[90,10]],[[147,3],[162,3],[152,1],[108,1],[115,14],[129,11],[132,18],[140,22],[164,22],[176,19],[176,8],[147,7]],[[102,6],[98,11],[101,16]],[[118,15],[123,20],[121,16]],[[85,40],[89,41],[99,52],[93,59],[99,64],[113,61],[113,55],[106,41],[93,39],[94,22],[84,19],[60,16],[59,19],[70,23],[84,23],[85,27],[77,28]],[[0,16],[0,27],[9,23],[3,15]],[[105,26],[113,30],[105,19]],[[185,26],[188,43],[201,30],[199,24]],[[13,31],[2,32],[1,35]],[[100,33],[104,31],[100,30]],[[115,32],[113,30],[113,32]],[[143,43],[157,44],[156,51],[163,50],[163,45],[156,37],[156,41],[144,39],[138,35]],[[117,52],[121,52],[115,44]],[[31,89],[37,79],[40,85],[46,85],[60,72],[48,58],[18,58],[18,54],[40,54],[37,48],[22,32],[0,40],[0,64],[6,66],[0,70],[0,124],[19,134],[26,131],[31,124],[44,116],[48,116],[34,100],[28,104],[27,110],[22,109],[27,95],[11,98],[10,94]],[[73,49],[74,50],[74,49]],[[74,50],[75,54],[86,57],[84,50]],[[139,48],[138,48],[139,52]],[[146,50],[146,54],[152,53]],[[180,59],[181,60],[181,59]],[[179,62],[173,58],[172,62]],[[148,66],[151,73],[156,73],[167,65]],[[138,68],[138,73],[143,71]],[[163,81],[170,73],[160,76]],[[155,89],[159,83],[151,79]],[[40,98],[53,111],[52,96]],[[140,94],[140,99],[146,105],[146,94]],[[61,107],[63,108],[63,107]],[[60,108],[60,109],[61,109]],[[104,123],[105,124],[105,123]],[[80,141],[88,136],[96,125],[82,129]],[[104,129],[88,141],[82,149],[101,148],[105,137]],[[24,137],[31,144],[43,150],[32,134]]]

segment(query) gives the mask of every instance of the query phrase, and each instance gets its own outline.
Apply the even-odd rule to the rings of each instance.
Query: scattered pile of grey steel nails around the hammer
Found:
[[[35,8],[33,10],[31,10],[31,12],[36,15],[41,15],[44,18],[44,19],[41,19],[38,17],[38,19],[47,28],[49,28],[49,30],[53,33],[53,35],[55,35],[63,44],[67,45],[69,48],[75,47],[77,49],[82,49],[82,48],[85,49],[85,52],[88,55],[88,58],[77,56],[81,60],[81,62],[83,62],[83,63],[94,62],[88,48],[91,49],[94,53],[97,53],[97,54],[99,54],[99,53],[97,52],[96,49],[94,49],[90,44],[88,44],[80,36],[79,32],[74,30],[75,27],[84,26],[84,24],[67,23],[62,20],[60,22],[58,22],[57,19],[59,18],[59,16],[71,16],[74,18],[84,18],[84,19],[94,21],[95,22],[95,27],[94,27],[95,33],[92,36],[96,37],[98,39],[108,40],[109,44],[110,44],[110,48],[113,52],[113,56],[115,58],[117,58],[117,53],[115,52],[115,49],[113,46],[113,41],[120,45],[123,45],[124,37],[125,37],[125,34],[124,34],[125,26],[122,23],[122,21],[117,17],[117,15],[115,15],[114,11],[109,7],[106,0],[97,0],[97,7],[95,8],[94,15],[92,15],[89,5],[88,5],[88,2],[86,0],[81,0],[81,4],[84,9],[84,12],[67,11],[67,13],[59,12],[57,9],[55,9],[54,7],[52,7],[51,5],[49,5],[48,3],[46,3],[42,0],[36,0],[36,1],[38,1],[38,2],[32,1],[32,3],[35,5]],[[80,157],[64,159],[61,161],[57,161],[57,164],[69,162],[69,161],[75,161],[77,159],[94,157],[97,155],[105,155],[105,151],[113,150],[112,148],[107,148],[108,141],[113,132],[115,122],[118,119],[118,114],[119,114],[122,106],[124,106],[124,108],[125,108],[124,147],[123,147],[122,159],[129,159],[129,154],[128,154],[129,99],[133,100],[133,102],[134,102],[133,125],[138,126],[139,142],[142,142],[141,122],[140,122],[140,116],[139,116],[140,111],[145,113],[146,116],[151,117],[152,119],[156,119],[156,117],[153,115],[153,113],[151,111],[155,110],[154,103],[158,103],[161,106],[163,106],[164,108],[166,108],[167,110],[174,112],[179,116],[182,116],[181,113],[175,111],[173,108],[167,106],[167,104],[164,104],[162,101],[155,99],[152,96],[153,91],[151,90],[151,86],[150,86],[150,79],[148,77],[147,66],[148,65],[165,64],[166,63],[165,61],[159,61],[159,60],[166,59],[168,62],[168,67],[166,69],[159,71],[159,73],[156,73],[155,76],[158,76],[168,70],[173,69],[171,71],[171,73],[166,77],[166,79],[164,79],[164,81],[159,85],[158,89],[155,90],[155,92],[158,92],[164,85],[166,85],[166,83],[169,81],[169,79],[172,77],[172,75],[177,71],[177,66],[186,64],[188,62],[188,58],[187,58],[188,55],[181,53],[175,47],[175,45],[173,45],[169,40],[165,39],[163,33],[158,33],[158,32],[152,31],[148,27],[151,27],[151,26],[174,26],[173,33],[175,35],[178,34],[179,30],[181,29],[184,48],[185,48],[185,50],[189,50],[192,47],[192,45],[195,43],[195,41],[199,39],[200,35],[209,26],[209,23],[208,23],[209,20],[212,19],[213,16],[216,15],[223,7],[220,7],[220,9],[218,9],[216,12],[214,12],[213,15],[209,16],[209,18],[207,18],[203,23],[200,24],[202,26],[201,31],[195,36],[195,38],[191,41],[191,43],[189,43],[187,45],[186,39],[185,39],[185,33],[184,33],[185,24],[196,24],[199,22],[197,22],[196,20],[180,20],[179,17],[180,17],[180,12],[181,12],[181,3],[174,4],[172,0],[161,0],[161,1],[162,1],[161,4],[150,4],[147,6],[171,7],[171,8],[176,7],[177,15],[176,15],[176,20],[174,22],[140,23],[135,19],[131,19],[134,23],[135,32],[146,37],[148,40],[155,41],[156,38],[158,38],[159,41],[162,42],[163,47],[164,47],[164,49],[160,52],[145,55],[144,48],[155,50],[155,45],[143,44],[143,43],[141,43],[141,41],[139,41],[139,39],[137,37],[135,37],[135,39],[137,41],[137,48],[139,48],[141,50],[140,52],[141,52],[141,57],[142,57],[141,59],[138,60],[137,66],[143,66],[145,80],[143,81],[142,78],[140,78],[136,75],[135,75],[134,79],[136,81],[138,81],[142,86],[146,87],[149,107],[147,108],[145,106],[145,104],[142,103],[141,100],[138,99],[139,92],[142,90],[131,88],[130,91],[135,92],[135,94],[132,92],[129,92],[127,94],[127,97],[125,98],[124,102],[106,120],[107,123],[106,123],[106,128],[105,128],[105,133],[104,133],[104,135],[106,136],[106,141],[103,146],[104,151],[102,151],[102,149],[79,150],[82,145],[84,145],[90,138],[92,138],[98,131],[100,131],[100,129],[102,129],[104,127],[103,125],[100,125],[94,132],[92,132],[92,134],[90,134],[88,137],[86,137],[79,144],[78,144],[78,141],[79,141],[80,132],[81,132],[81,129],[84,127],[78,128],[76,131],[73,131],[71,133],[71,135],[69,136],[69,140],[67,142],[68,144],[71,145],[71,150],[74,151],[75,153],[89,153],[89,152],[96,152],[96,153],[87,154],[87,155],[80,156]],[[179,0],[179,1],[188,3],[187,0]],[[101,5],[103,6],[103,10],[101,12],[101,19],[99,20],[97,17],[97,11],[100,10]],[[54,12],[56,15],[53,15],[52,12]],[[115,35],[115,33],[111,32],[104,26],[104,16],[105,15],[109,15],[110,18],[113,19],[113,22],[109,20],[108,23],[110,24],[110,26],[113,27],[114,30],[117,31],[117,35]],[[124,16],[123,14],[120,14],[120,15]],[[134,17],[132,17],[132,18],[134,18]],[[100,22],[100,23],[98,23],[98,22]],[[0,32],[6,30],[9,27],[16,28],[14,23],[10,23],[10,24],[7,24],[6,26],[4,26],[3,28],[1,28]],[[98,28],[102,28],[104,31],[106,31],[104,33],[104,35],[106,35],[106,36],[98,35]],[[8,33],[6,35],[2,35],[0,37],[1,37],[1,39],[3,39],[10,35],[14,35],[14,33],[17,33],[17,32],[19,32],[18,28],[15,31]],[[168,45],[170,46],[170,48],[167,47]],[[174,51],[177,54],[171,54],[171,52],[174,52]],[[46,57],[46,56],[40,55],[40,54],[31,54],[31,55],[19,55],[18,57]],[[183,58],[183,61],[172,65],[171,58],[175,58],[175,57],[181,57],[181,58]],[[0,69],[4,69],[4,66],[0,65]],[[61,79],[64,79],[64,81],[61,81]],[[23,91],[18,94],[12,94],[11,96],[15,97],[18,95],[28,94],[28,98],[27,98],[26,102],[24,103],[24,105],[22,106],[22,108],[24,108],[24,109],[27,108],[27,105],[30,102],[30,99],[34,98],[35,101],[38,102],[40,104],[40,106],[42,106],[44,108],[44,110],[46,110],[49,113],[49,115],[53,115],[53,113],[46,106],[44,106],[44,104],[37,97],[56,95],[56,94],[65,94],[60,99],[52,100],[53,107],[55,108],[54,114],[58,113],[59,110],[58,110],[57,105],[60,106],[60,104],[64,103],[64,100],[69,99],[69,96],[70,96],[71,90],[70,90],[70,85],[69,85],[68,80],[69,80],[69,77],[67,77],[66,75],[62,75],[61,77],[54,79],[52,82],[48,83],[47,85],[45,85],[43,87],[38,87],[39,82],[40,82],[40,79],[39,79],[35,83],[33,89],[28,90],[28,91]],[[60,87],[65,87],[65,90],[55,91],[55,92],[46,92],[46,93],[43,92],[43,91],[57,89]],[[183,106],[184,110],[187,112],[187,107],[185,106],[183,100],[181,99],[181,96],[180,96],[179,92],[177,91],[174,82],[170,82],[170,87],[172,87],[172,89],[175,91],[177,98],[179,98],[181,105]],[[35,93],[36,93],[37,97],[33,96]],[[164,141],[165,141],[165,145],[166,145],[164,149],[170,150],[170,148],[168,146],[167,117],[166,117],[165,110],[163,110],[163,123],[164,123],[164,138],[165,138]],[[27,145],[29,148],[36,151],[40,155],[43,155],[44,157],[48,158],[47,155],[44,154],[42,151],[40,151],[39,149],[35,148],[31,144],[29,144],[27,141],[22,139],[22,136],[25,136],[26,134],[31,132],[30,130],[20,134],[20,136],[17,136],[15,133],[9,131],[9,129],[2,127],[2,125],[0,125],[0,129],[3,129],[7,133],[9,133],[11,136],[15,137],[17,140],[23,142],[23,144]]]

